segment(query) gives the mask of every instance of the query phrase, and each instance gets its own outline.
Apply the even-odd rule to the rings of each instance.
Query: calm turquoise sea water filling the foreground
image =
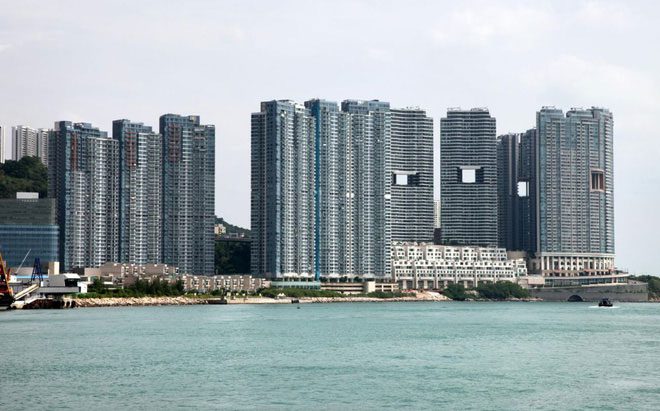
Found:
[[[0,312],[0,409],[660,409],[660,304]]]

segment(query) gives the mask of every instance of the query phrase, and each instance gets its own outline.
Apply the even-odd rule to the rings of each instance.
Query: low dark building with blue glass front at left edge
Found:
[[[58,260],[59,227],[55,199],[0,199],[0,253],[10,267]],[[25,262],[23,260],[25,259]]]

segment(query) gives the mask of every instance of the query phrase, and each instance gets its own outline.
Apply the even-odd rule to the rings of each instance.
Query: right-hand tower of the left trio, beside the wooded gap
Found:
[[[160,117],[163,138],[163,262],[214,274],[215,127],[199,116]]]

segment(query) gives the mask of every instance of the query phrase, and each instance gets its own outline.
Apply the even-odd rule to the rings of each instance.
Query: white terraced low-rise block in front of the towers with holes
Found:
[[[476,287],[481,282],[516,282],[527,275],[524,259],[509,258],[505,249],[491,247],[396,243],[392,266],[392,279],[402,289]]]

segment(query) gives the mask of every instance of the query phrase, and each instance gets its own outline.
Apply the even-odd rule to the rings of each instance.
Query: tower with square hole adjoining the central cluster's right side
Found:
[[[433,119],[392,109],[392,241],[433,240]]]

